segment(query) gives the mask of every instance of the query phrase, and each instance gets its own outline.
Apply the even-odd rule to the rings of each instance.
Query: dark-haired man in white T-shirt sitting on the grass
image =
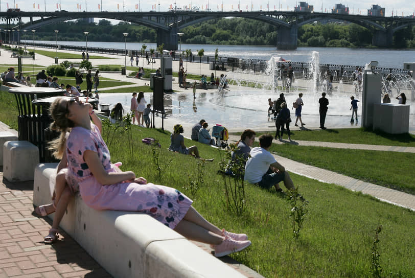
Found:
[[[280,181],[284,182],[288,190],[295,189],[288,172],[269,152],[272,139],[271,134],[263,134],[259,137],[260,147],[252,148],[250,157],[246,161],[244,179],[262,188],[268,189],[273,186],[281,193],[283,190],[278,185]]]

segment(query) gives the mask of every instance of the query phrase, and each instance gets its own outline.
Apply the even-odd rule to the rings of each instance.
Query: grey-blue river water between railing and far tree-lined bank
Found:
[[[28,40],[27,43],[30,44]],[[56,41],[35,41],[38,43],[56,43]],[[85,45],[84,41],[58,41],[58,44]],[[143,42],[127,42],[127,49],[140,50]],[[145,43],[147,50],[155,49],[155,43]],[[88,47],[125,49],[124,42],[88,41]],[[179,46],[180,48],[180,46]],[[370,61],[378,61],[379,67],[403,68],[404,62],[415,62],[415,50],[381,50],[381,49],[350,49],[350,48],[297,48],[296,50],[278,50],[276,47],[256,45],[210,45],[210,44],[181,44],[181,50],[191,49],[193,55],[200,49],[204,55],[214,56],[218,48],[219,56],[245,59],[269,60],[273,56],[281,56],[293,62],[310,61],[311,52],[320,53],[320,63],[340,65],[360,65]]]

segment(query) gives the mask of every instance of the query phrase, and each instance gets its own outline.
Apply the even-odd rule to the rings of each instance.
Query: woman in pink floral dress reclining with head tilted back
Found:
[[[53,126],[65,132],[68,171],[78,182],[82,201],[95,210],[142,212],[189,239],[212,244],[215,257],[241,251],[251,242],[246,234],[219,229],[203,218],[193,201],[177,189],[148,183],[132,171],[110,164],[110,153],[98,127],[90,122],[91,105],[57,98],[51,105]]]

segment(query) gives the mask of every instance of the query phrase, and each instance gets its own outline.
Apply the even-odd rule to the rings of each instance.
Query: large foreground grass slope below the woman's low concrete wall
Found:
[[[105,132],[104,132],[105,138]],[[385,273],[411,277],[415,273],[415,252],[412,227],[414,213],[372,197],[345,190],[292,174],[299,191],[309,201],[309,212],[300,236],[292,236],[290,206],[273,190],[246,185],[245,214],[237,217],[223,204],[222,177],[217,175],[219,151],[207,145],[185,140],[186,146],[196,145],[202,157],[215,158],[205,164],[203,184],[195,196],[189,190],[190,180],[197,176],[199,160],[167,150],[170,137],[157,130],[134,126],[133,155],[126,147],[126,135],[117,135],[109,148],[113,161],[122,161],[122,170],[132,170],[150,182],[174,187],[189,195],[196,209],[219,227],[246,233],[252,241],[247,249],[232,254],[239,262],[265,277],[368,277],[371,247],[378,224],[380,264]],[[162,147],[162,176],[153,164],[152,147],[141,138],[155,137]],[[118,138],[118,139],[117,139]],[[164,161],[172,159],[170,165]],[[405,175],[407,172],[403,171]]]

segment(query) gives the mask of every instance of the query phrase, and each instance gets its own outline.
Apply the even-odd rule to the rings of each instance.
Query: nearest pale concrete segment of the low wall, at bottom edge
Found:
[[[145,253],[143,277],[245,277],[187,239],[152,242]]]

